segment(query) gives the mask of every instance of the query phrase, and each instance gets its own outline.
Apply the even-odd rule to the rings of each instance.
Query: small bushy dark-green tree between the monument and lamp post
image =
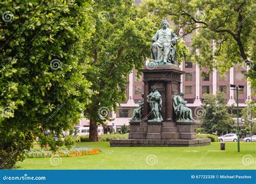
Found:
[[[204,94],[204,102],[201,107],[205,111],[205,116],[201,127],[207,132],[212,133],[218,131],[218,134],[223,131],[233,130],[233,118],[228,114],[228,107],[225,94],[217,92],[216,95]]]

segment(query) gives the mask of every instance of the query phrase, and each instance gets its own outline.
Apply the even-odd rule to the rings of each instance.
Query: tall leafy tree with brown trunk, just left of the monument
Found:
[[[150,19],[139,18],[133,1],[96,1],[92,6],[95,33],[86,49],[93,58],[86,79],[97,94],[85,110],[90,119],[90,141],[98,141],[98,123],[110,119],[117,104],[125,101],[127,75],[142,68],[150,55],[156,28]]]

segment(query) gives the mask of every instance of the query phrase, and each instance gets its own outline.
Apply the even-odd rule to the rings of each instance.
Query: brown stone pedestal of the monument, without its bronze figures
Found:
[[[155,65],[156,63],[154,63]],[[194,122],[173,121],[173,97],[180,93],[180,78],[185,72],[175,65],[156,65],[140,69],[144,81],[144,117],[130,122],[129,139],[110,140],[111,146],[205,146],[211,139],[196,139]],[[161,94],[163,122],[154,122],[147,95],[151,86]],[[149,121],[150,120],[150,121]]]

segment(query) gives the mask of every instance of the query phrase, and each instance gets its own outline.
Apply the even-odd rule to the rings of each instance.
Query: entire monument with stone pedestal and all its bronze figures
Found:
[[[130,121],[129,139],[110,140],[110,146],[205,146],[211,139],[196,139],[192,111],[180,93],[183,72],[174,61],[178,37],[162,22],[152,38],[152,62],[143,73],[143,99]]]

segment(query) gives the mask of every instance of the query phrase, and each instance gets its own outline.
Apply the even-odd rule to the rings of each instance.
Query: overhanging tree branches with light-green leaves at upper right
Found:
[[[200,68],[207,67],[209,72],[217,68],[225,73],[235,63],[249,66],[247,77],[256,87],[253,1],[147,0],[141,6],[154,16],[176,23],[181,37],[193,34],[191,60]]]

